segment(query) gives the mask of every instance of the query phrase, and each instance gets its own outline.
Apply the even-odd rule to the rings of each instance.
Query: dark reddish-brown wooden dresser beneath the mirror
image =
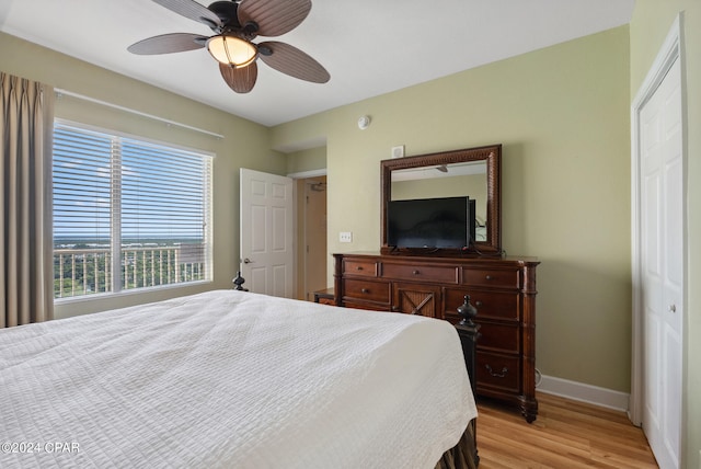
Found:
[[[533,258],[467,259],[379,253],[334,254],[335,302],[348,308],[460,320],[466,295],[481,325],[478,396],[515,404],[536,420]]]

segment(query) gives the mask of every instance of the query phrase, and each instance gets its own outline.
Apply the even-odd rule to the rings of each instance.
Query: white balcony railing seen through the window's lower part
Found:
[[[108,248],[54,249],[54,298],[113,291]],[[122,290],[206,279],[204,244],[123,247],[118,265]]]

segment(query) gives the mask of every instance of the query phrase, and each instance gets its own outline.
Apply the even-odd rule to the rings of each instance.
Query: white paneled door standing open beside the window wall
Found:
[[[241,275],[251,291],[291,298],[292,180],[241,168]]]

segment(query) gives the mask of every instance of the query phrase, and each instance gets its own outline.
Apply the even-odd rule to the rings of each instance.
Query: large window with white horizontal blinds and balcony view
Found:
[[[54,125],[54,297],[211,279],[212,156]]]

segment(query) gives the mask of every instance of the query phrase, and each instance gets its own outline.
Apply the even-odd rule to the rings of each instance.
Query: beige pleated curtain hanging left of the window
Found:
[[[0,327],[54,317],[54,89],[0,72]]]

